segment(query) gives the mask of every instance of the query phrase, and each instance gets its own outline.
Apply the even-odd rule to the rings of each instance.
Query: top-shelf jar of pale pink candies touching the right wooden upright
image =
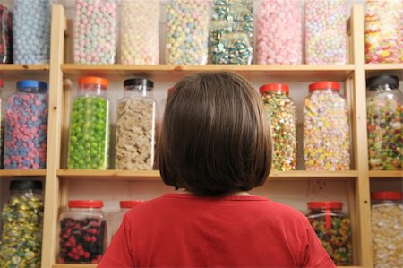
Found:
[[[305,61],[308,65],[345,64],[345,0],[305,1]]]

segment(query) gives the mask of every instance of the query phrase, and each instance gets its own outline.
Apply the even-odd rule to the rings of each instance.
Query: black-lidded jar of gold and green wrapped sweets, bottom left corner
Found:
[[[13,180],[4,203],[0,242],[2,267],[40,267],[43,186],[39,180]]]

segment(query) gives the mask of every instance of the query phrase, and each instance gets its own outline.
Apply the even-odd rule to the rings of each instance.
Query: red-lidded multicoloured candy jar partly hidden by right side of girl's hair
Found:
[[[274,143],[273,169],[296,169],[296,105],[285,84],[271,83],[260,88],[264,108],[270,118]]]

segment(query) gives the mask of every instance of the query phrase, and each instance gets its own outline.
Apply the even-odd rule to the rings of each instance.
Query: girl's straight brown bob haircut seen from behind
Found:
[[[270,126],[249,82],[236,73],[194,73],[169,95],[159,137],[165,184],[195,195],[262,186],[271,167]]]

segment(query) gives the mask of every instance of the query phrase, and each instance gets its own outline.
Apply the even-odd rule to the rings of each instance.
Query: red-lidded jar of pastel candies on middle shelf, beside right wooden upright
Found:
[[[314,82],[304,99],[304,163],[306,170],[348,170],[350,132],[346,100],[338,82]]]

